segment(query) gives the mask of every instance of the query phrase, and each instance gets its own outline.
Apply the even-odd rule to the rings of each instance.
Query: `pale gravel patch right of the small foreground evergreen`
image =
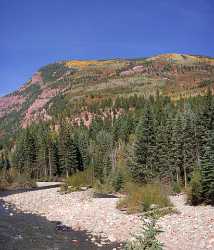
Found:
[[[159,239],[167,250],[214,249],[214,207],[186,205],[185,195],[170,197],[178,214],[158,222],[164,231]]]

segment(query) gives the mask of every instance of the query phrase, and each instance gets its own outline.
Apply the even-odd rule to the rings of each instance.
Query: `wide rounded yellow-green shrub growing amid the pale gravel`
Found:
[[[155,204],[158,208],[171,205],[166,189],[158,183],[143,186],[128,183],[125,191],[127,197],[119,201],[118,208],[126,209],[128,213],[148,211],[152,204]]]

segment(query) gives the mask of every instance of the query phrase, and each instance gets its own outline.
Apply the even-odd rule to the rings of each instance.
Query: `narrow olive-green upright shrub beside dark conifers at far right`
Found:
[[[190,186],[187,189],[187,202],[198,205],[202,202],[201,173],[198,169],[193,171]]]

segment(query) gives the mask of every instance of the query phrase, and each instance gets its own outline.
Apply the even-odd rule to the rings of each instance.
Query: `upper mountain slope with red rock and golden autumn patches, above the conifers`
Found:
[[[154,95],[173,99],[213,88],[214,59],[165,54],[145,59],[61,61],[42,67],[16,92],[0,97],[0,136],[11,135],[33,121],[51,120],[63,110],[69,116],[94,102],[117,96]]]

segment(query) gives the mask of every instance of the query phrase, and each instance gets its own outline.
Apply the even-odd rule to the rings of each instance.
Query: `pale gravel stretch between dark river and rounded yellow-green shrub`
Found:
[[[58,190],[11,194],[3,200],[25,213],[44,215],[49,221],[61,221],[73,230],[86,230],[111,242],[124,242],[141,224],[139,216],[116,209],[118,198],[93,198],[91,190],[61,195]]]

